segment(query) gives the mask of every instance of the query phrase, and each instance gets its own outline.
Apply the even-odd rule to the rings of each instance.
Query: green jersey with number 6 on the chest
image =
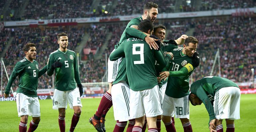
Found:
[[[38,78],[47,71],[47,65],[39,70],[38,62],[33,60],[33,63],[27,58],[18,61],[15,64],[13,72],[5,88],[5,93],[9,94],[13,81],[19,76],[19,86],[17,93],[23,93],[29,97],[37,97]]]

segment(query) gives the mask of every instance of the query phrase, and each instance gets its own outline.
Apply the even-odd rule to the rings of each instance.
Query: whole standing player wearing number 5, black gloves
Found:
[[[47,74],[52,76],[55,71],[53,109],[59,110],[60,130],[65,132],[65,110],[68,102],[70,109],[74,110],[69,129],[70,132],[73,132],[81,114],[80,96],[83,93],[83,88],[79,78],[75,52],[67,49],[67,34],[60,33],[57,38],[60,48],[50,54]]]

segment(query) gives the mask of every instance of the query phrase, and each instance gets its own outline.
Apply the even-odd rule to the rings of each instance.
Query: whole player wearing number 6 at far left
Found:
[[[37,96],[38,78],[47,71],[47,65],[39,70],[36,59],[36,45],[28,43],[24,45],[23,52],[26,57],[15,64],[13,72],[5,88],[4,97],[9,97],[13,81],[19,76],[17,89],[17,110],[21,118],[19,132],[27,131],[28,116],[32,116],[28,132],[34,132],[40,122],[40,104]]]

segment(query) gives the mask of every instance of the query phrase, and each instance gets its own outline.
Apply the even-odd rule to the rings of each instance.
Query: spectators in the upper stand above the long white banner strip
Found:
[[[149,2],[151,0],[145,0]],[[24,1],[13,0],[10,3],[9,9],[6,15],[7,20],[16,20],[18,15],[18,7],[22,5]],[[65,3],[65,8],[62,8]],[[180,5],[175,5],[175,0],[154,0],[155,3],[161,5],[158,9],[159,13],[174,13],[174,12],[193,12],[193,11],[210,11],[210,10],[223,10],[223,9],[235,9],[235,8],[250,8],[254,7],[256,2],[253,0],[246,1],[234,1],[234,0],[202,0],[201,5],[198,6],[183,0]],[[3,10],[6,1],[0,4],[0,15]],[[68,4],[67,4],[68,3]],[[99,17],[99,16],[124,16],[132,14],[142,14],[140,7],[143,6],[141,1],[127,1],[117,0],[115,7],[112,7],[112,11],[105,14],[107,6],[113,6],[113,1],[101,0],[100,3],[94,8],[91,7],[93,0],[75,1],[65,0],[62,2],[51,0],[29,0],[28,5],[24,9],[24,15],[22,19],[57,19],[57,18],[82,18],[82,17]],[[200,8],[196,8],[196,6]],[[19,7],[20,8],[20,7]],[[93,9],[92,9],[93,8]],[[108,8],[111,9],[111,8]]]

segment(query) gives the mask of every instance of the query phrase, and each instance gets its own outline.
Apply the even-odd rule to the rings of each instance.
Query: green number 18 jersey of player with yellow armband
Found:
[[[192,64],[192,57],[182,53],[181,47],[171,50],[174,57],[172,62],[167,66],[167,70],[179,71],[188,63]],[[189,95],[189,76],[192,74],[191,70],[189,73],[183,74],[179,77],[168,78],[168,83],[166,87],[166,95],[173,98],[182,98]]]

